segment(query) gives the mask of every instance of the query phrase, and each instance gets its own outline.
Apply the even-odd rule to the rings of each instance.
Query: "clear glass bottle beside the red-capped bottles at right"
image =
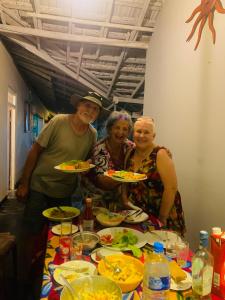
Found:
[[[192,258],[192,289],[194,299],[208,299],[212,288],[213,256],[207,250],[209,234],[200,231],[199,248]]]

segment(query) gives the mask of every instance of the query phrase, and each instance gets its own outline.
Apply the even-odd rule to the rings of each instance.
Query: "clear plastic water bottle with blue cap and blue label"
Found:
[[[144,265],[143,300],[169,299],[170,271],[162,243],[154,243],[154,252]]]

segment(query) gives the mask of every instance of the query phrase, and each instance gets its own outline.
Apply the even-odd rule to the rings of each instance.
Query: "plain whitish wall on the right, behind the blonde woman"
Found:
[[[144,114],[156,120],[157,142],[174,155],[187,238],[225,229],[225,16],[215,13],[217,41],[206,23],[197,51],[185,24],[199,0],[167,0],[147,58]]]

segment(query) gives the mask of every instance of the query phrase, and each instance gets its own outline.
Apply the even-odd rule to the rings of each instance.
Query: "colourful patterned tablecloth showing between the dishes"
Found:
[[[149,217],[149,220],[141,223],[141,224],[126,224],[122,223],[120,225],[123,227],[133,228],[136,230],[140,230],[142,232],[149,232],[154,229],[160,229],[160,223],[155,219],[153,216]],[[53,278],[53,272],[54,269],[51,267],[52,264],[59,265],[64,262],[64,260],[60,257],[59,253],[59,236],[52,233],[52,225],[49,224],[48,229],[48,238],[47,238],[47,245],[46,245],[46,254],[45,254],[45,262],[44,262],[44,270],[43,270],[43,280],[42,280],[42,287],[41,287],[41,295],[40,299],[42,300],[59,300],[60,299],[60,293],[62,291],[62,288],[54,281]],[[97,225],[97,224],[96,224]],[[102,229],[102,227],[99,227],[97,225],[96,231],[99,229]],[[140,258],[140,260],[144,263],[144,253],[149,251],[150,246],[146,244],[142,248],[143,255]],[[131,255],[131,253],[125,253],[128,255]],[[192,257],[192,251],[189,253],[189,258],[186,263],[186,266],[184,268],[185,271],[191,273],[191,257]],[[97,265],[96,262],[92,261],[90,255],[83,255],[83,260],[86,260],[88,262],[92,262],[93,264]],[[186,291],[172,291],[169,292],[169,299],[170,300],[181,300],[181,299],[194,299],[192,296],[192,289],[188,289]],[[142,283],[134,290],[129,293],[123,294],[123,300],[141,300],[142,299]],[[212,300],[219,300],[222,298],[219,298],[215,295],[211,295]]]

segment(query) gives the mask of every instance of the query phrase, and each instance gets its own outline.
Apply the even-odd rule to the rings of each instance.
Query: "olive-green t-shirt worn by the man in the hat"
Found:
[[[31,177],[31,189],[50,197],[64,198],[76,188],[77,175],[55,170],[62,162],[86,160],[96,142],[96,130],[90,125],[83,136],[77,136],[69,115],[56,115],[43,128],[37,143],[44,148]]]

